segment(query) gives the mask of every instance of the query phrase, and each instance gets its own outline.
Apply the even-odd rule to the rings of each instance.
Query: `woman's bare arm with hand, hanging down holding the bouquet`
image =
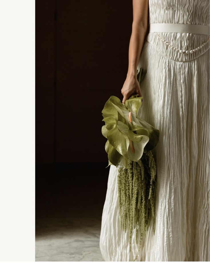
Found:
[[[129,64],[128,73],[121,93],[122,103],[133,93],[141,97],[141,89],[137,80],[137,65],[143,48],[148,27],[148,5],[149,0],[133,0],[133,23],[132,33],[129,43]]]

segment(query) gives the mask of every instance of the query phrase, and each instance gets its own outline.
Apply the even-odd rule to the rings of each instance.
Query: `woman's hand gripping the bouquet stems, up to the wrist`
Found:
[[[142,97],[139,81],[136,76],[130,77],[127,76],[123,88],[121,89],[121,93],[123,95],[122,103],[125,104],[125,101],[132,95],[137,93],[140,97]]]

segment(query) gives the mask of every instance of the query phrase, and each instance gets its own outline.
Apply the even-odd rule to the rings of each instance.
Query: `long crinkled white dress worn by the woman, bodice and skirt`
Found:
[[[149,0],[149,23],[209,25],[209,0]],[[158,33],[178,49],[195,49],[205,34]],[[210,95],[209,41],[183,55],[149,33],[138,70],[139,116],[159,129],[155,235],[152,220],[137,261],[209,261]],[[132,261],[138,247],[133,230],[120,228],[117,168],[110,166],[100,249],[105,261]]]

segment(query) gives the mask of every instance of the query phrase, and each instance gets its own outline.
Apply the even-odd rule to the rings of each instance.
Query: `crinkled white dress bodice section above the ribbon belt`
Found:
[[[149,0],[149,23],[209,25],[209,0]]]

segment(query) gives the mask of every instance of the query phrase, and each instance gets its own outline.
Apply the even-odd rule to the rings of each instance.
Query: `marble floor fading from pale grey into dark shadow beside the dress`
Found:
[[[70,175],[76,164],[38,169],[36,261],[104,261],[99,237],[109,172],[105,166],[86,164],[74,180]],[[83,178],[84,170],[89,178]]]

